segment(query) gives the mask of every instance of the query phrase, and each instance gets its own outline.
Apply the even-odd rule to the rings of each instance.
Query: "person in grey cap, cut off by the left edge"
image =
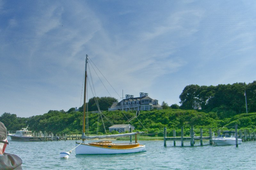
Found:
[[[22,169],[22,160],[14,154],[4,153],[7,146],[7,129],[4,123],[0,122],[0,169]]]

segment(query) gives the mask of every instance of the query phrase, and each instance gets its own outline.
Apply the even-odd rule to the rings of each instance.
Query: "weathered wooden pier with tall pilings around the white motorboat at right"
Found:
[[[214,138],[214,134],[216,132],[212,132],[212,129],[209,129],[209,131],[206,133],[209,133],[209,136],[203,137],[203,129],[200,129],[200,136],[196,136],[195,132],[194,132],[194,127],[191,126],[189,137],[184,137],[184,129],[182,126],[180,137],[176,137],[175,129],[172,130],[173,137],[167,137],[167,131],[166,131],[166,128],[164,128],[164,146],[166,146],[166,141],[168,141],[168,140],[173,141],[173,146],[176,146],[176,141],[181,141],[181,146],[184,146],[184,141],[190,141],[190,146],[194,146],[195,140],[200,140],[200,146],[204,145],[203,141],[212,145],[213,144],[212,138]],[[218,129],[218,131],[217,131],[217,136],[220,136],[220,129]],[[248,133],[248,131],[246,131],[246,130],[244,130],[244,131],[239,130],[239,133],[238,133],[237,125],[235,125],[235,137],[236,137],[236,147],[238,147],[237,138],[242,139],[243,142],[256,140],[255,132]]]

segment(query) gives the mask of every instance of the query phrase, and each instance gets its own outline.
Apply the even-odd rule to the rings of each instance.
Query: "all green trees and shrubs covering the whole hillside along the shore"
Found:
[[[245,96],[247,109],[246,114]],[[256,128],[256,81],[252,83],[235,83],[233,85],[199,86],[188,85],[180,94],[181,106],[173,104],[168,106],[163,102],[163,110],[153,109],[151,111],[140,111],[140,115],[127,122],[136,115],[134,112],[107,111],[115,98],[98,98],[100,110],[113,124],[132,124],[137,129],[148,133],[161,132],[164,127],[177,128],[181,126],[190,128],[218,128],[238,124],[239,128]],[[91,98],[86,104],[88,108],[95,111],[97,104],[95,98]],[[201,110],[193,109],[200,106]],[[112,124],[99,113],[89,112],[89,133],[108,132]],[[102,118],[101,118],[102,117]],[[46,131],[48,133],[82,133],[83,106],[76,110],[74,107],[68,111],[49,110],[43,115],[28,118],[17,117],[15,114],[4,113],[0,116],[8,130],[20,130],[28,125],[29,130]],[[103,120],[103,122],[98,122]],[[104,126],[105,125],[105,128]],[[99,129],[97,129],[99,127]]]

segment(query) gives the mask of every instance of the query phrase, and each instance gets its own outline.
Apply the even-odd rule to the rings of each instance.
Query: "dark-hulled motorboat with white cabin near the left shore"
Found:
[[[9,134],[11,140],[16,141],[41,141],[40,137],[33,137],[32,131],[28,130],[27,128],[21,128],[21,130],[17,130],[15,134]]]

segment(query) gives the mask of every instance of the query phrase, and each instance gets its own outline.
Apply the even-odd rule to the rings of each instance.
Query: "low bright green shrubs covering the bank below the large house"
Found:
[[[136,128],[135,131],[145,131],[148,134],[154,134],[154,136],[162,136],[164,127],[167,127],[168,135],[172,135],[171,129],[176,129],[177,133],[180,133],[181,126],[184,127],[184,133],[189,135],[189,129],[192,125],[195,129],[206,129],[205,131],[207,131],[212,128],[213,131],[217,131],[220,128],[221,130],[230,130],[230,127],[232,129],[235,124],[238,124],[239,129],[246,129],[250,132],[256,131],[256,113],[243,113],[220,119],[215,112],[204,113],[198,110],[172,108],[154,109],[141,111],[140,115],[137,115],[131,122],[127,122],[127,120],[136,115],[134,112],[103,111],[102,113],[113,124],[132,124]],[[102,135],[105,132],[110,133],[108,127],[112,124],[104,116],[102,116],[103,122],[101,122],[101,118],[99,119],[99,113],[89,112],[87,116],[89,120],[88,134]],[[82,134],[83,113],[80,111],[67,113],[63,110],[50,110],[43,115],[29,118],[4,113],[0,116],[0,121],[5,124],[7,130],[20,130],[28,125],[29,130],[35,130],[36,132],[45,130],[47,133],[52,132],[54,134]]]

